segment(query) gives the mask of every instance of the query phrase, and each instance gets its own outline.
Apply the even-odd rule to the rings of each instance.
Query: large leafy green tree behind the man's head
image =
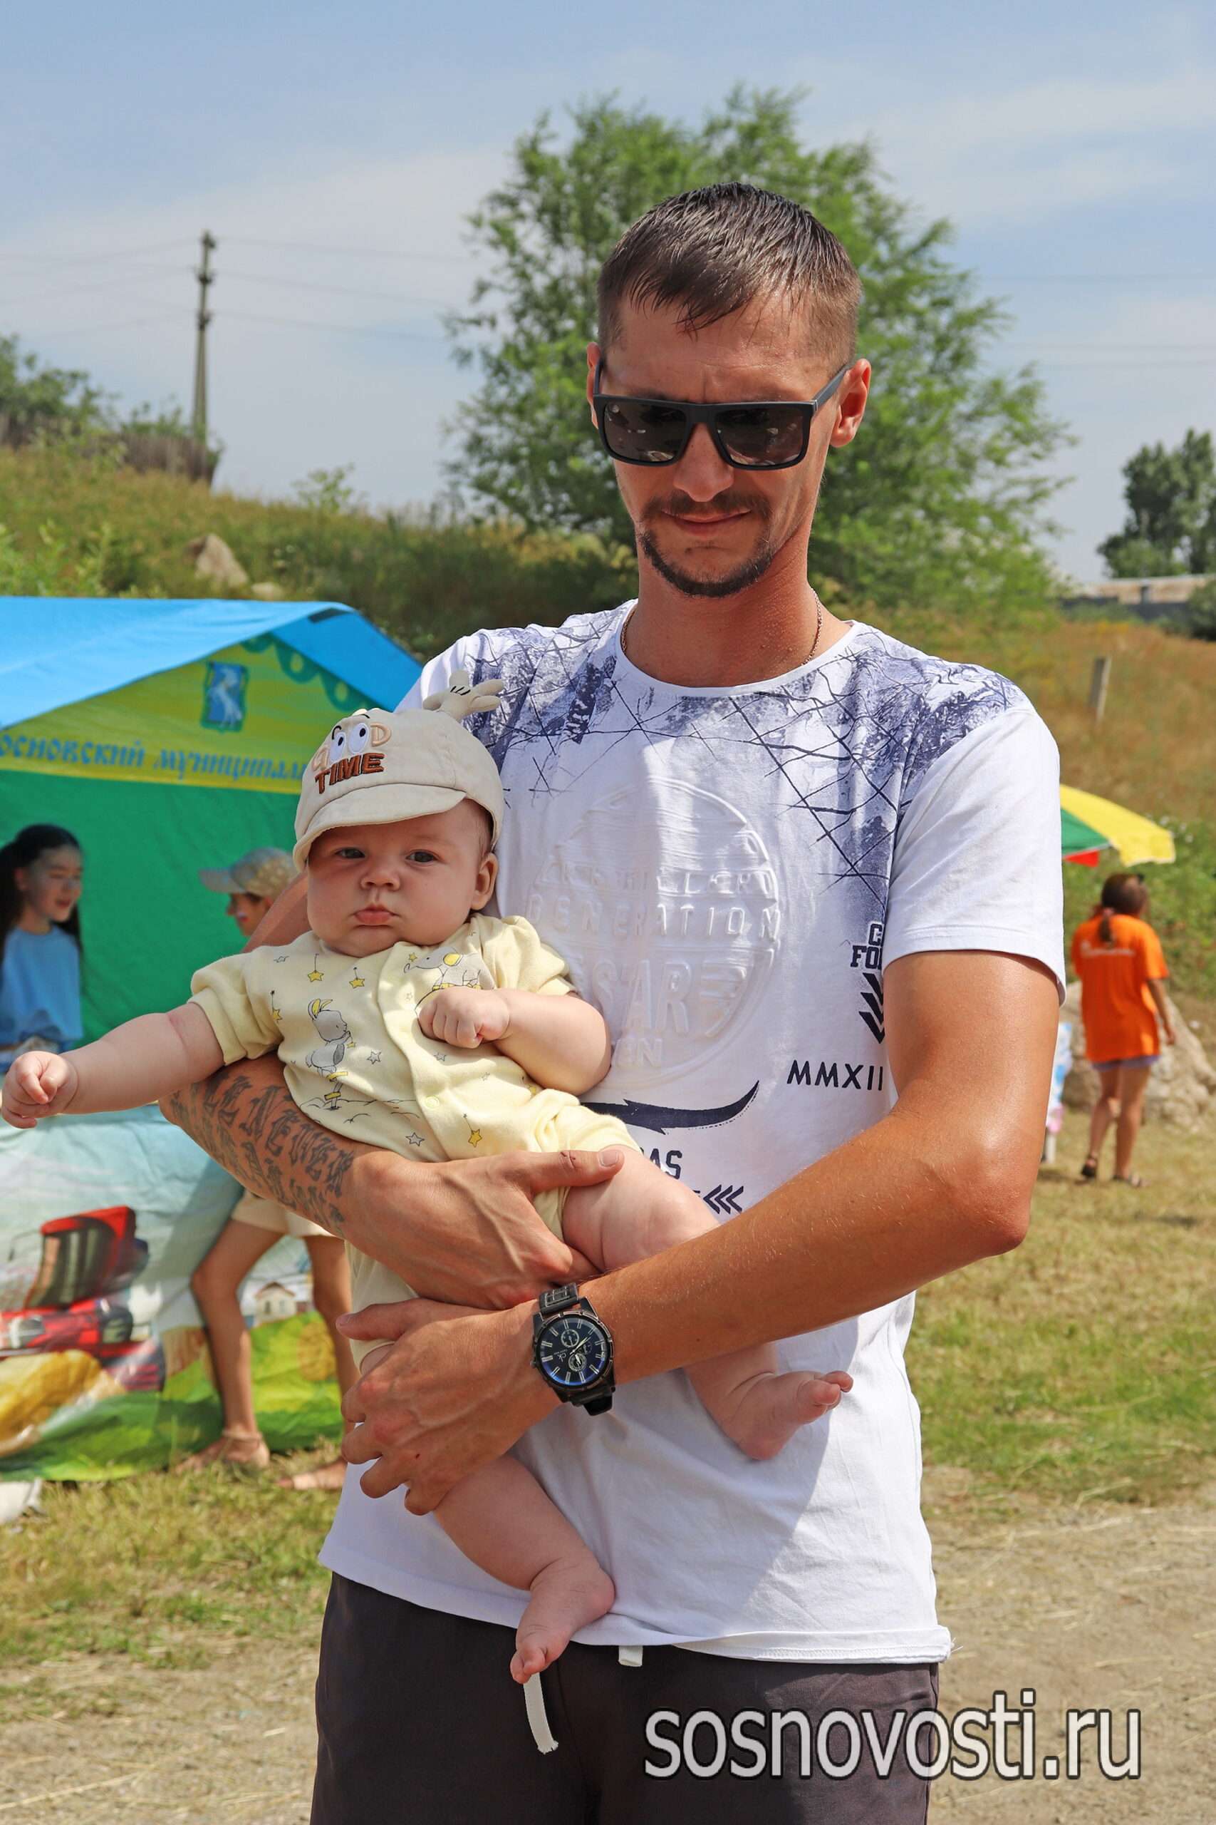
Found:
[[[866,287],[859,350],[875,385],[859,440],[828,462],[815,577],[882,604],[1043,602],[1036,540],[1063,427],[1030,369],[990,370],[1005,316],[952,265],[950,224],[919,224],[868,144],[804,148],[800,99],[735,89],[698,128],[600,99],[574,110],[569,144],[547,115],[516,141],[507,182],[470,217],[487,276],[448,321],[458,360],[481,376],[448,474],[478,511],[631,542],[583,400],[600,265],[660,199],[753,182],[811,208]]]

